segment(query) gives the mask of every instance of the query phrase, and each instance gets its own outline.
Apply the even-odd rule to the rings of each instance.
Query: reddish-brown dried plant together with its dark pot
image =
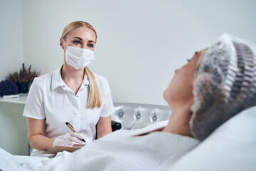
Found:
[[[38,71],[31,71],[31,65],[26,68],[24,63],[19,72],[10,73],[6,79],[15,81],[18,85],[18,93],[28,93],[28,85],[33,79],[39,76]]]

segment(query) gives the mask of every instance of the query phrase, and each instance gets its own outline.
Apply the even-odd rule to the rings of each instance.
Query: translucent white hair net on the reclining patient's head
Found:
[[[226,120],[256,105],[256,46],[224,33],[202,54],[194,83],[191,133],[204,140]]]

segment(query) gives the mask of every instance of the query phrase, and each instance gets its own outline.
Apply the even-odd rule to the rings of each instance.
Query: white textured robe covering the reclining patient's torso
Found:
[[[73,153],[62,153],[42,170],[167,170],[198,145],[199,141],[181,135],[154,132],[166,121],[141,130],[119,130]]]

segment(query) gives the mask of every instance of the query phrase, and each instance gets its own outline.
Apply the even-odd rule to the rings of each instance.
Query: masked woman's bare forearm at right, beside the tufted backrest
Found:
[[[97,138],[102,138],[109,133],[112,133],[111,115],[107,117],[100,117],[100,120],[97,123]]]

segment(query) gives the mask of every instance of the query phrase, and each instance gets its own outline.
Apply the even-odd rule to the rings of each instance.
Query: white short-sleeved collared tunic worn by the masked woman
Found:
[[[57,70],[35,78],[28,93],[23,116],[39,120],[46,120],[46,137],[62,138],[70,133],[66,122],[74,129],[85,135],[85,141],[95,139],[95,125],[100,117],[107,117],[114,113],[110,86],[107,79],[95,75],[97,85],[102,96],[102,106],[93,110],[87,109],[87,98],[90,83],[87,76],[82,81],[78,93],[75,94],[65,85]]]

